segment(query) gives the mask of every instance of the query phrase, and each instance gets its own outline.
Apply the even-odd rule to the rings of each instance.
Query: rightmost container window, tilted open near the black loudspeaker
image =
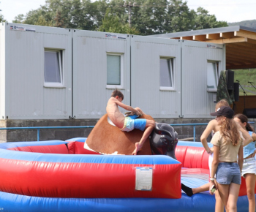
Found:
[[[207,90],[217,91],[219,80],[219,62],[208,61],[207,62]]]

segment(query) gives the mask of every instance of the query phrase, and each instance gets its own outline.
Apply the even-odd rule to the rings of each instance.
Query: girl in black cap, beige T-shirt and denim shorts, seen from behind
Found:
[[[236,202],[243,167],[243,140],[233,120],[233,114],[233,110],[226,106],[219,107],[217,112],[211,113],[211,116],[217,116],[217,125],[220,127],[211,139],[214,145],[214,159],[211,164],[209,190],[213,194],[211,188],[216,187],[225,210],[229,212],[237,211]]]

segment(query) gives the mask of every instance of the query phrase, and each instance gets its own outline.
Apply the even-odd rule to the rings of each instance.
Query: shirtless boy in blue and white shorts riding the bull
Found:
[[[140,110],[139,107],[133,108],[129,105],[125,105],[124,103],[122,103],[123,100],[124,94],[116,89],[115,91],[113,91],[110,99],[108,100],[106,110],[110,120],[119,129],[121,129],[121,131],[129,132],[132,131],[132,129],[140,129],[141,131],[145,130],[143,136],[140,139],[140,142],[135,143],[135,150],[132,152],[132,154],[136,155],[138,151],[140,151],[140,149],[142,148],[143,143],[145,142],[147,137],[154,129],[155,121],[145,118],[138,118],[142,115],[145,115],[145,113],[143,113],[143,111]],[[129,114],[129,116],[124,116],[124,114],[120,112],[118,106],[130,111],[131,113]]]

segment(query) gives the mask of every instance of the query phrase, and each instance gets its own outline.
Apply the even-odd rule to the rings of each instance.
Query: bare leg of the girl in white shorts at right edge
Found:
[[[245,175],[246,192],[249,200],[249,212],[255,211],[255,181],[255,174]]]

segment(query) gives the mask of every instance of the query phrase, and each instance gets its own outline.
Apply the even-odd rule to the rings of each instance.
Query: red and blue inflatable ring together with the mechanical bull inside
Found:
[[[127,140],[131,132],[113,135],[110,129],[120,129],[108,124],[106,116],[97,125],[102,123],[105,131],[96,142],[103,148],[89,146],[107,154],[131,154],[136,142]],[[96,126],[94,132],[89,137],[97,137]],[[104,135],[118,144],[105,143]],[[175,148],[176,137],[172,128],[157,124],[152,151],[149,140],[140,151],[168,156],[102,155],[83,148],[84,137],[0,143],[0,211],[214,211],[214,195],[181,194],[181,182],[191,187],[208,182],[208,154],[201,143],[179,142]],[[177,160],[170,157],[174,149]],[[243,179],[239,196],[238,211],[248,211]]]

